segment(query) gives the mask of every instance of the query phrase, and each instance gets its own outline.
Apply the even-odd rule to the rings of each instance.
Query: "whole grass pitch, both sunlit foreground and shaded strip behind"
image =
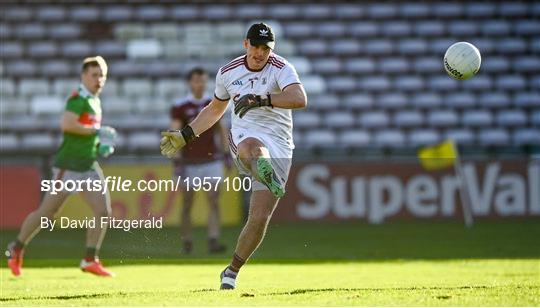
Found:
[[[229,246],[238,228],[224,230]],[[42,232],[24,275],[2,262],[0,306],[538,306],[540,222],[273,225],[238,289],[218,291],[229,254],[178,254],[178,230],[111,232],[102,257],[118,276],[81,273],[84,233]],[[2,245],[14,236],[2,231]]]

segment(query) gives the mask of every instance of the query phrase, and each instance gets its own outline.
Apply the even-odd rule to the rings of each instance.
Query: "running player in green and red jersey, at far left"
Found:
[[[68,98],[62,117],[61,129],[64,139],[53,167],[54,180],[86,181],[104,179],[96,158],[108,157],[114,152],[116,131],[101,126],[101,101],[98,97],[107,79],[107,63],[100,57],[86,58],[82,64],[79,89]],[[103,183],[103,182],[102,182]],[[15,276],[21,274],[24,249],[39,232],[42,217],[54,219],[69,196],[68,191],[46,193],[39,208],[24,220],[17,238],[8,245],[8,267]],[[97,222],[111,214],[109,192],[85,190],[81,197],[88,203]],[[98,253],[105,236],[106,227],[100,223],[88,228],[86,255],[80,267],[84,272],[98,276],[113,276],[101,264]]]

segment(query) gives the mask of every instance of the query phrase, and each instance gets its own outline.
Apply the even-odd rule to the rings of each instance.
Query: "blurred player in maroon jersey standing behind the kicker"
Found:
[[[171,107],[171,129],[180,129],[185,124],[193,121],[197,114],[208,105],[212,99],[204,94],[208,73],[201,67],[195,67],[187,74],[186,82],[190,93],[175,102]],[[218,142],[219,140],[219,142]],[[221,121],[208,129],[197,141],[178,151],[173,159],[174,175],[181,177],[184,183],[189,179],[191,187],[195,187],[193,181],[203,178],[212,184],[217,185],[217,179],[223,178],[223,165],[230,168],[230,156],[226,152],[227,130]],[[193,230],[191,223],[191,210],[195,200],[194,189],[184,187],[182,191],[184,202],[182,204],[181,234],[183,249],[182,252],[190,254],[193,250]],[[210,189],[205,192],[208,200],[208,252],[221,253],[226,250],[226,246],[219,243],[220,222],[219,222],[219,191]]]

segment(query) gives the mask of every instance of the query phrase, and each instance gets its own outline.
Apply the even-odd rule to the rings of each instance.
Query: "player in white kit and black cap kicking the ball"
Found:
[[[304,87],[294,67],[272,50],[275,38],[264,24],[252,25],[246,54],[221,67],[212,102],[182,130],[162,132],[161,153],[172,157],[234,103],[230,149],[241,173],[252,176],[249,215],[232,262],[221,273],[221,289],[234,289],[242,265],[261,243],[272,212],[285,194],[294,142],[291,109],[305,108]]]

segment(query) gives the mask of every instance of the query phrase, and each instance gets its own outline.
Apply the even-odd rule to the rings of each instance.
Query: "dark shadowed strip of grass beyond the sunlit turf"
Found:
[[[222,230],[229,251],[209,254],[206,230],[194,232],[194,251],[181,254],[178,228],[111,230],[101,249],[106,265],[224,264],[241,226]],[[1,247],[15,238],[2,230]],[[473,228],[456,221],[273,224],[250,263],[322,263],[392,260],[540,258],[540,220],[480,220]],[[77,266],[85,230],[43,231],[25,252],[25,266]],[[5,262],[0,263],[5,267]]]

